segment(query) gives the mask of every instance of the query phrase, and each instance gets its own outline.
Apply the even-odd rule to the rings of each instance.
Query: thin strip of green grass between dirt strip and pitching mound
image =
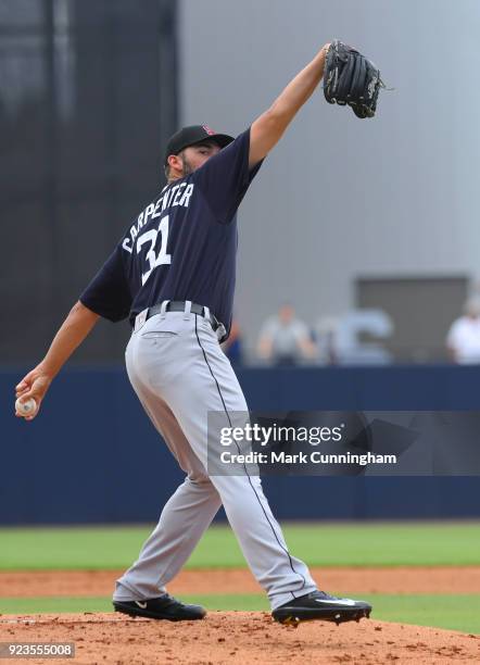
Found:
[[[363,598],[374,605],[375,619],[480,633],[480,595],[366,594]],[[184,595],[181,599],[212,611],[268,611],[264,595]],[[0,612],[112,612],[112,602],[110,598],[7,598],[0,599]]]

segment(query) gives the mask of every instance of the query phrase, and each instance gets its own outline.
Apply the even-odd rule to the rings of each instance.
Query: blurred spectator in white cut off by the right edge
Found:
[[[480,298],[470,298],[465,314],[453,322],[446,338],[452,360],[462,365],[480,363]]]

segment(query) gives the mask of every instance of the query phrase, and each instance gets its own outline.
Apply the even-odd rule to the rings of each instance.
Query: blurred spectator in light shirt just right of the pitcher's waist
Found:
[[[283,304],[278,314],[262,326],[258,355],[276,365],[296,365],[316,357],[316,348],[306,324],[295,317],[290,304]]]

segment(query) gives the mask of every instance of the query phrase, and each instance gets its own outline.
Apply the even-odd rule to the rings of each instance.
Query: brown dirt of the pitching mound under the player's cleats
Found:
[[[76,657],[61,661],[75,665],[480,662],[478,636],[371,619],[288,628],[262,612],[211,612],[203,620],[175,624],[119,614],[3,615],[0,639],[75,642]]]

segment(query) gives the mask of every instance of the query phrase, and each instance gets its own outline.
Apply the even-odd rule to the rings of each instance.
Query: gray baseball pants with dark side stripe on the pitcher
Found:
[[[223,504],[275,610],[316,585],[306,565],[289,553],[260,477],[207,474],[207,413],[228,416],[248,407],[209,317],[188,310],[152,316],[134,331],[126,349],[131,385],[187,477],[138,560],[117,580],[113,599],[143,601],[164,593]]]

